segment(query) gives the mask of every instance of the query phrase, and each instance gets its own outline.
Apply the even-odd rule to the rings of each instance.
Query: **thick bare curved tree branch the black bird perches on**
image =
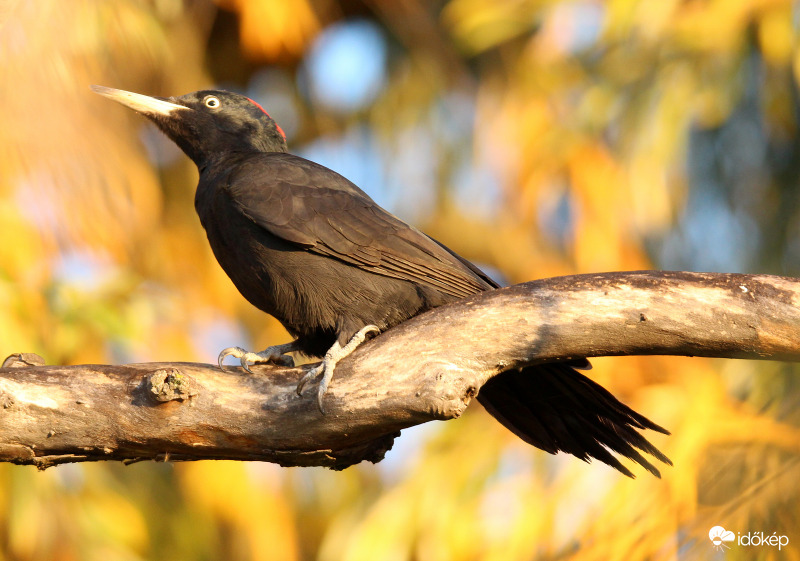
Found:
[[[0,460],[238,459],[340,469],[402,428],[460,416],[513,367],[634,354],[800,360],[800,280],[640,271],[485,292],[417,316],[336,367],[322,415],[308,366],[192,363],[0,369]]]

